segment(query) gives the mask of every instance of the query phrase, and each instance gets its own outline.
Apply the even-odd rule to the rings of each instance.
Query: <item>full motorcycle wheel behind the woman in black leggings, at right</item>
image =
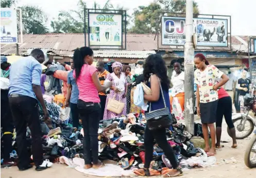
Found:
[[[250,129],[248,131],[246,131],[245,133],[243,133],[242,135],[237,135],[237,133],[242,133],[245,131],[245,130],[243,130],[243,131],[238,130],[238,127],[240,127],[241,120],[243,120],[243,117],[238,117],[236,119],[233,119],[233,123],[235,125],[236,139],[244,139],[244,138],[248,137],[253,132],[253,129],[254,129],[253,122],[250,119],[247,119],[246,123],[247,124],[249,123]],[[236,126],[235,123],[238,123],[238,125]],[[227,131],[228,131],[229,136],[232,137],[228,127],[227,127]]]

